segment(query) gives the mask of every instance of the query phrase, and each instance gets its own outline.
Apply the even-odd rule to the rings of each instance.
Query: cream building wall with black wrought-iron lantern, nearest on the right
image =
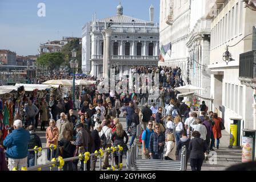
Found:
[[[206,4],[209,1],[206,2]],[[210,13],[210,12],[209,12]],[[213,108],[225,121],[226,130],[230,130],[230,118],[241,118],[244,128],[253,129],[253,89],[242,85],[239,76],[239,55],[251,51],[252,41],[241,41],[243,37],[253,31],[256,22],[256,14],[243,7],[243,2],[225,1],[216,12],[217,16],[211,22],[210,64],[211,69],[211,96],[214,98]],[[247,39],[251,39],[248,36]],[[238,43],[238,44],[237,44]],[[234,61],[226,64],[222,60],[226,45]],[[222,76],[219,81],[216,77]],[[222,84],[222,92],[218,85]],[[219,98],[222,98],[221,103]],[[222,107],[223,106],[223,107]]]

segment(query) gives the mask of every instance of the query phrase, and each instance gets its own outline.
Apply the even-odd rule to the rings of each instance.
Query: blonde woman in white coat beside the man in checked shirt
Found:
[[[176,143],[175,137],[172,133],[167,134],[165,160],[176,160]]]

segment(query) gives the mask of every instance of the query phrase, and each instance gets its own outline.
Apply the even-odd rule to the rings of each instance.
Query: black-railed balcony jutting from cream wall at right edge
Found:
[[[242,53],[239,58],[239,80],[256,88],[256,51]]]

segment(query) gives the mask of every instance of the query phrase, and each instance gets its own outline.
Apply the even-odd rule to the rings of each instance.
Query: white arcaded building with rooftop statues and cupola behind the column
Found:
[[[121,4],[117,14],[86,23],[82,34],[82,70],[97,76],[103,72],[102,31],[112,20],[110,68],[128,75],[134,65],[157,65],[159,56],[159,28],[154,25],[154,7],[150,6],[149,21],[123,15]]]

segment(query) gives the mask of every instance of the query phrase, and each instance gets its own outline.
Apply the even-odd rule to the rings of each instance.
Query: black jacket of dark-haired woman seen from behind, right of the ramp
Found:
[[[189,143],[190,159],[205,159],[207,144],[202,138],[196,137]]]

